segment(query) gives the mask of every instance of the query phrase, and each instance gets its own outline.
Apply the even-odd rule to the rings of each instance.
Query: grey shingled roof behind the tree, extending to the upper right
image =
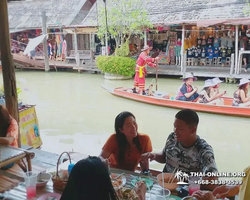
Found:
[[[249,18],[246,0],[142,0],[154,25],[196,24],[198,21]],[[98,4],[101,3],[100,1]],[[98,6],[97,6],[98,9]],[[96,4],[82,26],[97,26]],[[250,21],[246,24],[250,24]]]

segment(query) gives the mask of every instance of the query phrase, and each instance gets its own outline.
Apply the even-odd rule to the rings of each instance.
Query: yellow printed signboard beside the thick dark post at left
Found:
[[[28,108],[19,110],[19,119],[21,143],[33,148],[40,147],[42,140],[35,107],[29,106]]]

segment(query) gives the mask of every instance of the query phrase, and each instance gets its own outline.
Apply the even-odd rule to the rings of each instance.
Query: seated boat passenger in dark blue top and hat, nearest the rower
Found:
[[[183,77],[184,83],[180,87],[175,99],[180,101],[197,101],[199,97],[199,94],[197,93],[198,88],[192,86],[193,82],[196,80],[197,78],[194,77],[192,73],[186,73]]]

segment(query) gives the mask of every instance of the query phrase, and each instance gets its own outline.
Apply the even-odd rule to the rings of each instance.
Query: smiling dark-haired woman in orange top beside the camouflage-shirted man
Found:
[[[141,155],[152,151],[148,135],[139,134],[135,116],[130,112],[122,112],[115,118],[115,134],[112,134],[102,148],[100,157],[108,159],[110,167],[135,171]],[[145,164],[144,164],[145,165]],[[142,171],[148,170],[140,162]]]

